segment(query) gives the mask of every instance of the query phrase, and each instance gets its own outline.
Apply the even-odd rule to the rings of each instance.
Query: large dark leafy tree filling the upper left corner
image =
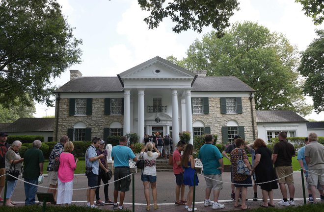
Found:
[[[52,106],[51,80],[79,63],[81,40],[56,0],[0,1],[0,102]]]

